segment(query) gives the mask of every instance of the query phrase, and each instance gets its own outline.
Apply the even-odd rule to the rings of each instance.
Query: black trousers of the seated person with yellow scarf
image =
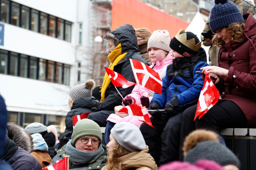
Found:
[[[98,112],[90,113],[87,119],[91,119],[94,122],[98,123],[100,127],[106,127],[107,119],[110,114],[115,113],[112,110],[101,110]]]

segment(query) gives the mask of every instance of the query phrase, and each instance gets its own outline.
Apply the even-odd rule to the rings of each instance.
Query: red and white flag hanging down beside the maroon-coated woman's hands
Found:
[[[205,73],[204,84],[197,102],[194,121],[196,117],[200,119],[206,112],[208,112],[208,110],[218,102],[219,97],[220,93],[218,89],[213,84],[208,74]]]

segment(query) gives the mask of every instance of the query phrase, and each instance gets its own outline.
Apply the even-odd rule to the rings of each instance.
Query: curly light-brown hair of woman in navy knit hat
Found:
[[[231,41],[242,42],[244,35],[245,23],[231,23],[227,27],[228,33],[231,35]],[[224,46],[225,42],[217,37],[215,34],[212,38],[212,44],[214,46],[219,46],[220,48]]]

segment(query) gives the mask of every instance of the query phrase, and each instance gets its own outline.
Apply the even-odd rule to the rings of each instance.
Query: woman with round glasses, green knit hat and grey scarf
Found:
[[[90,119],[75,124],[71,140],[53,158],[50,166],[64,156],[70,156],[70,168],[101,169],[107,162],[107,147],[101,144],[102,133],[99,125]]]

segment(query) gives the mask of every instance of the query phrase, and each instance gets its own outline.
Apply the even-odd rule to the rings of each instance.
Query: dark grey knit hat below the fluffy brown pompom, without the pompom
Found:
[[[222,166],[234,164],[240,169],[240,161],[225,145],[216,141],[202,141],[188,151],[184,161],[195,164],[200,159],[213,160]]]

